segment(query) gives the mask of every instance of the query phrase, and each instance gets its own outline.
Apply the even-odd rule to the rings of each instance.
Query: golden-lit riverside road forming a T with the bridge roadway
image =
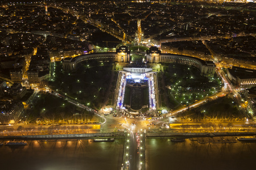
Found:
[[[123,163],[122,167],[127,169],[144,169],[147,160],[144,151],[144,134],[150,133],[154,136],[161,134],[169,135],[183,135],[184,137],[193,137],[196,135],[211,137],[221,135],[223,137],[228,135],[255,135],[255,124],[249,122],[245,123],[186,123],[183,124],[169,124],[169,122],[159,120],[144,120],[142,118],[120,118],[113,117],[112,114],[104,116],[106,122],[104,124],[96,125],[23,125],[22,130],[18,129],[20,125],[6,126],[6,130],[1,130],[1,135],[10,138],[15,135],[61,135],[61,134],[90,134],[90,133],[115,133],[120,130],[125,132],[125,144],[123,145]],[[169,117],[167,117],[169,119]],[[162,118],[164,119],[164,118]],[[230,127],[232,125],[232,127]],[[247,125],[247,126],[246,126]],[[93,129],[93,126],[97,126]],[[221,126],[221,127],[220,127]],[[11,128],[10,128],[11,127]],[[100,127],[100,128],[99,128]],[[1,127],[3,128],[3,127]],[[87,129],[86,129],[87,128]],[[45,130],[47,129],[47,130]],[[149,135],[149,134],[148,134]],[[139,140],[138,140],[139,136]],[[170,137],[167,136],[167,139]],[[56,138],[57,139],[57,138]],[[138,142],[139,141],[139,142]]]

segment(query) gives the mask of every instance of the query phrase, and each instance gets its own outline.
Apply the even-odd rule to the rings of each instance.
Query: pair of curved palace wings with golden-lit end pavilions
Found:
[[[117,62],[129,62],[130,50],[127,46],[120,46],[115,53],[91,53],[74,58],[65,58],[63,61],[63,69],[67,71],[73,71],[77,69],[77,66],[81,62],[87,62],[91,59],[97,61],[117,61]],[[182,56],[177,54],[162,54],[160,50],[151,46],[147,50],[146,56],[147,62],[150,63],[181,63],[183,65],[194,66],[199,69],[201,75],[213,76],[215,73],[215,64],[212,61],[204,61],[196,57]]]

